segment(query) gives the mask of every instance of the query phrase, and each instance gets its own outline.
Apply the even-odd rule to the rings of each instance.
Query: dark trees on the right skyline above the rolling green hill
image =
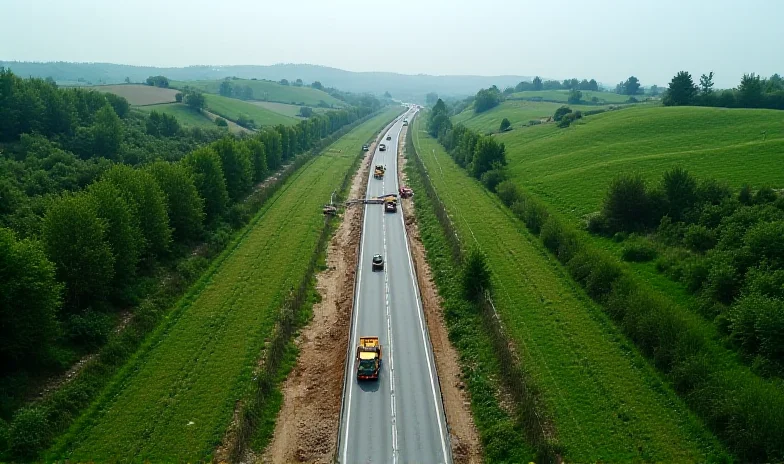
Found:
[[[713,72],[700,76],[699,85],[687,71],[678,72],[662,96],[665,106],[714,106],[723,108],[768,108],[784,110],[784,79],[773,74],[767,79],[751,73],[741,77],[738,87],[713,89]]]

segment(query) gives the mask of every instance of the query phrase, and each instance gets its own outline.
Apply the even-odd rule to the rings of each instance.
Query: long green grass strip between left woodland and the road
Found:
[[[72,462],[209,461],[280,304],[306,271],[321,206],[397,108],[325,149],[270,199],[53,448]]]

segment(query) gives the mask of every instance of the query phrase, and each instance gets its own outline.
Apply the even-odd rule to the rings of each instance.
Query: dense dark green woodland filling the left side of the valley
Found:
[[[157,268],[247,222],[254,184],[375,111],[329,111],[236,138],[127,108],[111,94],[0,71],[4,398],[25,372],[60,369],[73,359],[66,352],[105,343]],[[0,404],[0,419],[16,401]]]

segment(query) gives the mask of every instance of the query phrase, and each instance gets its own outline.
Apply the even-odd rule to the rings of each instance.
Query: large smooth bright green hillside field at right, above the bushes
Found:
[[[765,140],[762,132],[766,131]],[[573,218],[597,211],[610,180],[636,171],[658,182],[680,165],[733,187],[784,187],[784,112],[634,107],[496,136],[512,179]]]

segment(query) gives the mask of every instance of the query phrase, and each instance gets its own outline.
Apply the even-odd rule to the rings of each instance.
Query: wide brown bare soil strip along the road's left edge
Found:
[[[368,153],[373,153],[375,143]],[[373,157],[366,155],[349,198],[364,195]],[[296,340],[297,365],[282,386],[283,406],[262,462],[330,463],[337,447],[340,399],[351,326],[362,206],[346,209],[327,250],[327,269],[316,275],[321,301]]]

